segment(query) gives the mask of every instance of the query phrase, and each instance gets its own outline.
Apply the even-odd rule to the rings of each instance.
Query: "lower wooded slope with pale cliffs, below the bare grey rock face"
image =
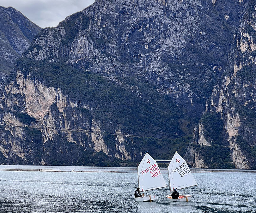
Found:
[[[65,63],[20,59],[2,86],[1,163],[113,165],[140,159],[142,144],[154,151],[161,141],[170,146],[183,134],[175,115],[179,110],[168,109],[174,105],[169,97],[150,88],[143,91],[150,95],[137,97],[133,87],[126,91]]]

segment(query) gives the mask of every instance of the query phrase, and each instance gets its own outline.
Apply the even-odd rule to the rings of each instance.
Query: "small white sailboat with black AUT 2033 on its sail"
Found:
[[[168,166],[168,176],[171,192],[174,188],[178,190],[197,185],[186,161],[177,152]],[[184,194],[180,195],[178,199],[173,199],[169,194],[166,197],[171,201],[190,201],[192,196]]]

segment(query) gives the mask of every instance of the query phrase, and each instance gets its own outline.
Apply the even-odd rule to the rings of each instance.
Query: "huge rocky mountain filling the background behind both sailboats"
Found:
[[[253,127],[234,113],[253,112],[254,84],[231,83],[253,76],[253,3],[96,0],[43,29],[2,84],[0,163],[135,165],[178,151],[197,168],[255,168]]]

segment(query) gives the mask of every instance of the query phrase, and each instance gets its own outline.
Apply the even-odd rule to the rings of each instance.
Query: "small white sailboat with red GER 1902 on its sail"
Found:
[[[166,187],[163,175],[156,163],[156,161],[146,153],[140,164],[137,167],[138,184],[140,192],[145,192],[152,189],[159,189]],[[156,195],[142,194],[142,197],[135,198],[136,201],[154,201]]]

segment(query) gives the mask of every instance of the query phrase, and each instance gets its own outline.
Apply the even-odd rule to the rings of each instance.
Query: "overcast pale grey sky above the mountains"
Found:
[[[39,27],[56,27],[67,16],[82,11],[94,0],[0,0],[0,6],[19,10]]]

